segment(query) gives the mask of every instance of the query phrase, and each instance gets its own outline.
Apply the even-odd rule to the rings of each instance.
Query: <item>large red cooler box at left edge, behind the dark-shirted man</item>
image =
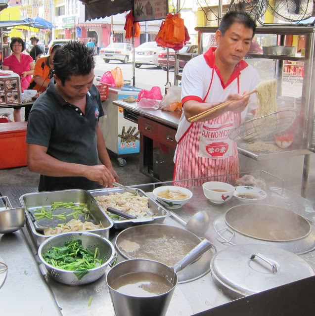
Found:
[[[0,124],[0,169],[27,166],[27,122]]]

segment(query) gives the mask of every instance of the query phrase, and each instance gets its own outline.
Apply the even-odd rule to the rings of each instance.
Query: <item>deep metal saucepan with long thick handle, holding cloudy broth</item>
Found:
[[[145,259],[131,259],[126,260],[118,265],[114,266],[106,276],[106,282],[109,288],[109,293],[112,299],[113,307],[116,316],[164,316],[167,312],[170,304],[175,286],[178,283],[177,271],[185,268],[192,263],[196,258],[211,248],[211,243],[204,239],[195,248],[191,250],[180,262],[173,267],[169,267],[157,261],[145,260]],[[147,273],[150,273],[149,275]],[[136,273],[136,280],[133,283],[133,290],[128,293],[124,293],[121,287],[117,288],[117,281],[122,279],[131,273]],[[127,277],[128,277],[127,276]],[[142,279],[143,277],[143,279]],[[145,277],[145,280],[144,280]],[[157,293],[157,289],[151,288],[151,284],[157,279],[163,279],[167,282],[168,286],[165,291]],[[164,283],[163,282],[163,283]],[[133,283],[124,281],[121,285],[130,286]],[[140,284],[139,284],[140,283]],[[162,282],[158,282],[158,287]],[[135,293],[138,287],[150,287],[147,291],[142,293]],[[147,296],[151,295],[151,296]]]

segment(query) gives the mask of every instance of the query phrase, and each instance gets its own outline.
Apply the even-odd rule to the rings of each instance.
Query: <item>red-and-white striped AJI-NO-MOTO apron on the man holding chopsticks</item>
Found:
[[[213,102],[208,97],[214,76],[214,67],[208,92],[202,102]],[[239,93],[239,76],[237,77]],[[237,144],[228,138],[229,132],[240,124],[240,113],[227,111],[206,122],[193,122],[178,142],[174,185],[193,187],[206,181],[232,182],[236,176],[222,176],[239,173]],[[207,177],[214,177],[204,179]]]

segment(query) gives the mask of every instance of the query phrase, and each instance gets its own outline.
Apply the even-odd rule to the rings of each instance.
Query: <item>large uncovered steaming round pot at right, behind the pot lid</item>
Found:
[[[314,227],[302,216],[269,204],[241,204],[213,223],[223,243],[265,244],[304,254],[315,249]]]

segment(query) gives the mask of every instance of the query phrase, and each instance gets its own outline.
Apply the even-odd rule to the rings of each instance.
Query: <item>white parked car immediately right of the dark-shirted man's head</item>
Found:
[[[111,43],[99,50],[99,57],[103,58],[106,63],[110,60],[120,60],[123,64],[126,64],[132,49],[133,45],[129,43]]]

